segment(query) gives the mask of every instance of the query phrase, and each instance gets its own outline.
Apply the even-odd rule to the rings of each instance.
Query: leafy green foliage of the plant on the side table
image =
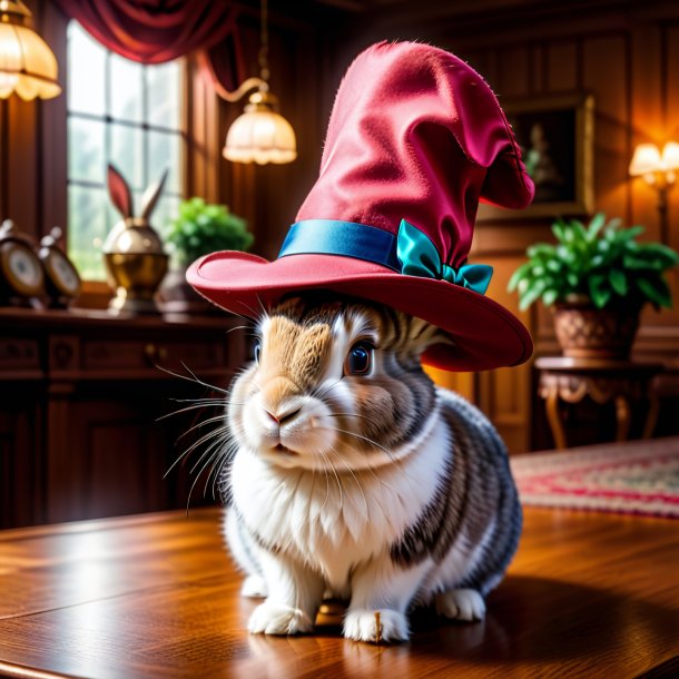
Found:
[[[510,292],[519,291],[520,307],[540,298],[550,306],[583,296],[598,308],[644,302],[670,307],[665,272],[679,263],[679,255],[660,243],[638,243],[644,227],[620,224],[620,219],[607,222],[603,213],[588,226],[578,219],[558,219],[552,225],[557,244],[530,246],[529,260],[509,282]]]

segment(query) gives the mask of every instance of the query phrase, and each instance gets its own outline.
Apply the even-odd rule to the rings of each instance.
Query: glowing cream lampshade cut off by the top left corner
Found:
[[[51,99],[61,92],[57,58],[31,28],[21,0],[0,0],[0,98],[12,92],[26,100]]]

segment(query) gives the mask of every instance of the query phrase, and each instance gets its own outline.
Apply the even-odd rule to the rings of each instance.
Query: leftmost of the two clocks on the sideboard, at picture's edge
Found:
[[[0,304],[41,307],[45,274],[30,238],[11,219],[0,226]]]

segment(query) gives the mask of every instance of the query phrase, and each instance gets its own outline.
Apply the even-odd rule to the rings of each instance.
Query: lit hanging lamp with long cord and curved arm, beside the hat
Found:
[[[226,135],[223,155],[235,163],[292,163],[297,157],[295,131],[278,114],[278,98],[268,89],[268,10],[262,0],[259,47],[259,78],[248,78],[234,92],[222,90],[227,101],[238,101],[245,92],[257,88],[249,96],[245,112],[238,116]]]

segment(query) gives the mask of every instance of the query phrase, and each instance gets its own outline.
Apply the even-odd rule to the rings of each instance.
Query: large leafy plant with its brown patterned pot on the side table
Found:
[[[529,260],[509,282],[518,291],[520,308],[538,299],[554,305],[554,327],[564,355],[627,358],[639,313],[649,302],[670,307],[665,272],[679,255],[660,243],[639,243],[642,226],[621,227],[599,213],[588,226],[578,219],[552,225],[557,244],[538,243],[527,249]]]

